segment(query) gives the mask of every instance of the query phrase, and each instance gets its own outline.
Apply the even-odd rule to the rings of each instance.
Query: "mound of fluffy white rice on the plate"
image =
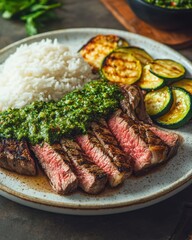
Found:
[[[93,78],[81,55],[57,40],[21,45],[0,65],[0,111],[59,100]]]

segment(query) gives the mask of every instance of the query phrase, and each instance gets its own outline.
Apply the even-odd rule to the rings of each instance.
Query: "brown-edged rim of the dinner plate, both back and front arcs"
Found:
[[[166,46],[162,43],[159,43],[153,39],[150,39],[148,37],[145,37],[145,36],[142,36],[139,34],[127,32],[125,30],[112,29],[112,28],[67,28],[67,29],[49,31],[49,32],[41,33],[41,34],[38,34],[35,36],[26,37],[26,38],[23,38],[19,41],[12,43],[12,44],[9,44],[8,46],[0,49],[0,55],[2,55],[3,53],[6,53],[8,50],[10,50],[12,48],[18,47],[19,45],[21,45],[23,43],[28,43],[30,41],[34,42],[35,40],[40,40],[42,38],[49,38],[49,36],[52,37],[53,35],[65,34],[65,33],[70,33],[70,32],[71,33],[72,32],[76,32],[76,33],[82,33],[82,32],[94,33],[95,32],[96,33],[96,32],[104,32],[104,31],[107,31],[107,32],[111,31],[111,32],[114,32],[114,34],[123,34],[123,35],[126,34],[127,36],[130,36],[130,37],[134,36],[139,39],[144,39],[147,42],[151,42],[155,45],[163,47],[163,49],[166,49],[168,51],[171,51],[171,52],[177,54],[178,56],[181,56],[182,59],[185,60],[185,62],[189,66],[191,65],[191,67],[192,67],[191,62],[185,56],[180,54],[178,51],[170,48],[169,46]],[[66,203],[57,203],[55,201],[54,202],[52,201],[50,204],[50,200],[46,201],[43,199],[39,199],[37,197],[34,197],[34,198],[32,198],[31,196],[29,197],[26,194],[18,193],[12,189],[9,189],[8,187],[4,186],[2,183],[0,183],[0,195],[2,195],[2,196],[7,195],[7,198],[9,198],[9,199],[18,198],[16,202],[18,202],[18,203],[23,202],[22,204],[26,205],[26,206],[32,205],[31,207],[34,207],[34,208],[38,208],[38,206],[37,206],[38,204],[40,204],[41,206],[43,205],[45,207],[46,211],[54,211],[52,209],[52,208],[54,208],[55,209],[54,212],[58,212],[57,209],[58,210],[62,209],[62,211],[59,211],[60,213],[68,213],[69,212],[69,214],[73,214],[74,211],[77,213],[77,210],[79,210],[81,212],[80,215],[86,215],[86,213],[83,214],[82,211],[89,212],[89,215],[90,214],[97,215],[97,213],[95,213],[95,211],[98,211],[98,210],[101,210],[101,211],[103,210],[105,212],[104,214],[109,214],[111,212],[111,210],[115,213],[119,213],[119,212],[122,212],[121,209],[123,209],[123,208],[128,208],[126,211],[129,211],[129,210],[136,210],[139,208],[143,208],[148,205],[152,205],[153,203],[150,204],[151,202],[157,203],[157,202],[161,201],[161,198],[162,198],[162,200],[167,199],[168,197],[173,196],[175,193],[177,193],[177,192],[181,191],[182,189],[184,189],[185,187],[187,187],[191,182],[192,182],[192,174],[190,174],[189,176],[180,178],[180,181],[177,182],[177,184],[172,184],[173,186],[169,185],[169,188],[167,187],[166,189],[164,189],[164,191],[162,191],[160,193],[152,194],[152,196],[144,197],[143,200],[141,200],[137,203],[134,203],[134,200],[132,200],[131,202],[129,201],[129,204],[127,204],[127,202],[123,202],[123,203],[109,204],[109,206],[101,205],[99,207],[90,206],[90,205],[87,205],[85,207],[85,206],[79,205],[77,208],[76,205],[71,206],[71,204],[68,204],[68,203],[67,204]],[[2,193],[2,191],[4,192],[4,194]],[[139,205],[142,205],[142,206],[139,206]],[[117,212],[114,211],[114,209],[118,209]]]

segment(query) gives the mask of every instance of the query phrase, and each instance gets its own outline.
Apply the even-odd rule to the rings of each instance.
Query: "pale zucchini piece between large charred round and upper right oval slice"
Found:
[[[143,67],[142,75],[137,85],[143,90],[156,90],[165,85],[165,81],[150,72],[150,64]]]

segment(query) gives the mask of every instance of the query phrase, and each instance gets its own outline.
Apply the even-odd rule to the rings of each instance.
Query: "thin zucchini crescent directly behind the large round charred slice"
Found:
[[[132,47],[132,46],[121,47],[121,48],[115,49],[115,51],[127,52],[127,53],[133,54],[133,56],[136,57],[143,66],[153,61],[153,58],[151,57],[151,55],[149,55],[149,53],[147,53],[144,49],[139,47]]]

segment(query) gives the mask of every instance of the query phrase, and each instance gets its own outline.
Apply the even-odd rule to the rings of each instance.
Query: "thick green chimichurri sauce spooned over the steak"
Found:
[[[0,113],[0,138],[28,139],[32,144],[53,143],[62,136],[85,133],[89,123],[119,106],[117,85],[94,80],[58,102],[33,102]]]

